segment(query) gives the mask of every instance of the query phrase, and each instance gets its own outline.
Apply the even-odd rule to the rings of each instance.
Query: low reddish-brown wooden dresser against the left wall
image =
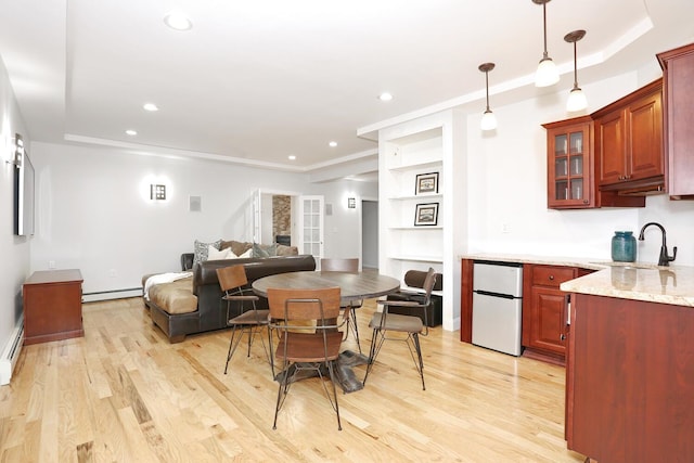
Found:
[[[73,269],[37,271],[24,282],[25,345],[85,335],[82,281]]]

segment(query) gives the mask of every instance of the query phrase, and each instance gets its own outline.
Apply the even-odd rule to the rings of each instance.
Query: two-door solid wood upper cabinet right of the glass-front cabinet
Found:
[[[601,191],[658,192],[665,184],[663,80],[595,112]]]

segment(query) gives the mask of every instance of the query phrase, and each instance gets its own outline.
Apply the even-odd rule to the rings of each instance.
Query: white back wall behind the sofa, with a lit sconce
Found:
[[[49,143],[31,149],[38,190],[31,270],[49,262],[79,268],[85,293],[139,287],[145,273],[176,271],[196,239],[253,241],[257,189],[325,194],[326,202],[336,202],[347,187],[211,160]],[[162,182],[167,201],[150,201],[150,183]],[[202,211],[189,211],[190,195],[202,197]],[[326,235],[326,247],[352,253],[358,224],[344,217],[347,210],[333,210],[326,222],[338,233]]]

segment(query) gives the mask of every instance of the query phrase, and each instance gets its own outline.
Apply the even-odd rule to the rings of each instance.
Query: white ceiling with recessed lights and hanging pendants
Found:
[[[166,27],[172,10],[193,28]],[[376,130],[404,115],[481,114],[484,62],[497,63],[492,106],[568,92],[568,31],[588,31],[581,82],[694,38],[692,0],[553,0],[548,50],[563,77],[536,89],[542,7],[531,0],[0,0],[0,11],[29,139],[296,171],[373,156]]]

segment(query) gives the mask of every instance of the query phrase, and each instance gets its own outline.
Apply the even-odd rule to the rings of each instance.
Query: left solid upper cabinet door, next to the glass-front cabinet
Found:
[[[600,153],[600,184],[620,182],[626,177],[625,118],[618,110],[597,120],[595,131]]]

